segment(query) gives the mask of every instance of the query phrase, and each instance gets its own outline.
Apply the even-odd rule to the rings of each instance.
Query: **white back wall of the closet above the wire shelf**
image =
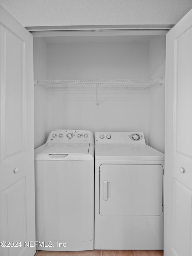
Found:
[[[148,51],[143,42],[47,44],[48,79],[147,79]]]

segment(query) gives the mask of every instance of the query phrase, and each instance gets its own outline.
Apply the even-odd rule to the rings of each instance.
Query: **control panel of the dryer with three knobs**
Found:
[[[95,142],[144,142],[143,132],[104,132],[97,131],[95,133]]]

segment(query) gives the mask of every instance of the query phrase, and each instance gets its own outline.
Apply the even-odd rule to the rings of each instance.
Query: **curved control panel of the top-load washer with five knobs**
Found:
[[[55,130],[49,133],[46,143],[92,142],[93,133],[85,130]]]

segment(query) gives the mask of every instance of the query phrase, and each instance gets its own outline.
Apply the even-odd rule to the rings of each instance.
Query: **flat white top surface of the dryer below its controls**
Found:
[[[164,154],[145,143],[95,143],[95,159],[164,160]]]

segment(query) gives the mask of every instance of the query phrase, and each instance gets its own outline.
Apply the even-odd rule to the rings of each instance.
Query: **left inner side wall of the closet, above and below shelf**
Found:
[[[43,38],[34,38],[34,78],[46,80],[47,44]],[[34,135],[35,148],[45,143],[47,137],[47,91],[39,85],[34,86]]]

